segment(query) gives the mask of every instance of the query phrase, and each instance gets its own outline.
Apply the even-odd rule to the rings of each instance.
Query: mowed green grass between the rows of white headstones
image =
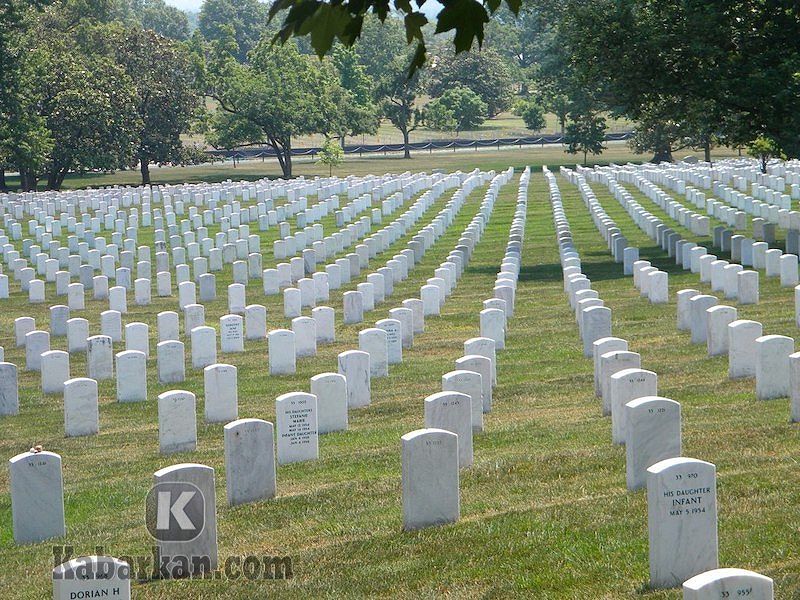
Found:
[[[521,156],[506,157],[524,164]],[[438,168],[439,158],[434,155],[426,167]],[[456,168],[473,168],[466,159]],[[611,261],[577,188],[561,177],[558,181],[584,271],[613,310],[614,334],[628,339],[631,349],[642,354],[644,368],[658,373],[660,393],[681,402],[684,454],[717,465],[721,565],[773,577],[779,598],[800,597],[798,426],[788,423],[788,401],[757,402],[751,380],[729,381],[724,358],[707,358],[704,347],[692,346],[686,333],[677,332],[674,302],[652,306],[639,298],[631,278],[622,276],[622,266]],[[678,590],[647,589],[646,497],[626,491],[624,449],[611,444],[610,420],[600,416],[594,398],[591,361],[582,357],[562,290],[541,174],[533,176],[529,189],[517,311],[509,323],[507,350],[498,355],[494,407],[485,416],[485,431],[475,439],[474,466],[461,472],[461,520],[414,533],[401,530],[400,436],[423,426],[425,396],[439,391],[441,375],[453,368],[463,341],[478,335],[478,311],[491,295],[517,185],[515,177],[502,189],[443,315],[427,320],[425,334],[404,352],[402,365],[391,367],[388,378],[373,379],[373,403],[350,412],[350,429],[321,438],[319,461],[279,468],[275,500],[226,506],[222,425],[203,421],[202,374],[187,368],[187,381],[180,386],[155,381],[155,315],[174,310],[175,298],[154,298],[147,309],[130,303],[125,322],[151,325],[151,399],[117,404],[113,381],[101,382],[97,436],[64,438],[61,399],[43,398],[38,375],[21,371],[21,414],[0,420],[0,449],[10,458],[41,443],[62,455],[68,535],[58,542],[15,546],[8,472],[0,470],[0,597],[47,597],[53,543],[75,545],[76,555],[91,553],[96,545],[114,555],[148,555],[151,540],[143,513],[152,473],[179,462],[199,462],[216,470],[221,561],[234,555],[288,555],[294,577],[150,581],[134,584],[136,598],[680,598]],[[623,233],[640,245],[642,257],[670,272],[673,298],[684,287],[709,291],[697,275],[676,270],[616,201],[603,194],[604,188],[593,187]],[[418,294],[475,214],[484,191],[473,192],[454,225],[363,326]],[[449,197],[445,194],[418,227]],[[645,199],[637,199],[647,206]],[[654,205],[647,207],[667,220]],[[325,231],[332,231],[329,223]],[[372,261],[371,268],[382,265],[407,239]],[[265,268],[274,263],[270,247],[262,242]],[[332,293],[328,304],[338,315],[342,292],[364,277]],[[218,289],[229,281],[227,267],[218,277]],[[791,290],[762,278],[761,298],[758,306],[742,307],[740,316],[762,320],[766,333],[793,335]],[[28,306],[19,292],[4,302],[0,344],[6,360],[24,364],[23,353],[13,347],[13,318],[32,315],[46,328],[47,306],[59,302],[50,285],[45,305]],[[259,282],[248,286],[248,302],[267,306],[270,329],[288,325],[280,298],[264,297]],[[83,314],[73,316],[89,318],[94,334],[106,306],[91,301]],[[215,325],[225,312],[221,294],[206,307],[207,323]],[[316,358],[299,360],[293,377],[267,374],[266,342],[247,342],[244,354],[220,354],[222,361],[239,367],[240,416],[273,420],[275,397],[307,391],[312,375],[335,370],[336,355],[357,346],[363,326],[337,323],[338,341],[320,346]],[[52,345],[60,349],[64,344],[54,339]],[[187,344],[187,359],[189,351]],[[73,356],[72,373],[82,375],[84,364],[83,357]],[[164,457],[158,452],[155,398],[176,387],[198,395],[198,450]]]

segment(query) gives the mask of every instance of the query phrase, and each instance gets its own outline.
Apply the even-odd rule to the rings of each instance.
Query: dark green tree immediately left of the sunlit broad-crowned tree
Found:
[[[117,30],[111,44],[135,84],[134,157],[142,184],[149,185],[150,164],[180,160],[180,136],[201,111],[193,63],[185,46],[148,30]]]

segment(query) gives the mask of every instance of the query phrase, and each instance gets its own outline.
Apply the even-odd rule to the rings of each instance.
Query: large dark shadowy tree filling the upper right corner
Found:
[[[577,83],[637,129],[677,129],[706,160],[717,139],[758,136],[800,154],[796,2],[569,0],[563,15],[559,39]],[[670,154],[651,149],[659,160]]]

